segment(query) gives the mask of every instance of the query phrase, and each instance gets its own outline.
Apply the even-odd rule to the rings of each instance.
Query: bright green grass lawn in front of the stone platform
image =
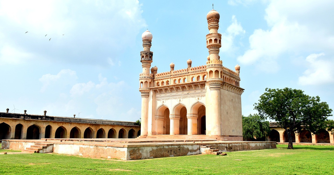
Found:
[[[60,154],[0,155],[0,174],[333,174],[334,146],[277,145],[227,156],[192,155],[135,161]]]

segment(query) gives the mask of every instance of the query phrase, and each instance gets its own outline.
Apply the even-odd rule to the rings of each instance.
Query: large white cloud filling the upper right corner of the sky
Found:
[[[327,15],[334,16],[330,10],[333,8],[331,1],[271,1],[265,15],[270,29],[256,29],[249,37],[249,49],[238,61],[266,65],[258,68],[277,72],[277,62],[283,59],[283,54],[310,54],[319,50],[332,54],[334,25]]]

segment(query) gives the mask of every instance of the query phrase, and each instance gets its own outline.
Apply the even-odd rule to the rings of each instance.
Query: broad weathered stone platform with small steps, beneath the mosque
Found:
[[[202,154],[203,146],[222,152],[245,151],[276,148],[276,142],[157,138],[2,140],[2,149],[122,160]]]

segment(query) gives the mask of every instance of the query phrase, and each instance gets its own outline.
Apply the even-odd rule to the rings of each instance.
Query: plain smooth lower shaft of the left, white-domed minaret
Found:
[[[147,136],[148,133],[148,97],[149,97],[149,88],[141,88],[139,90],[142,96],[142,112],[141,112],[141,136]]]

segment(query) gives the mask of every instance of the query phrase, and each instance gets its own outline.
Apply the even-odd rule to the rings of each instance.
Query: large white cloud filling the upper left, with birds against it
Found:
[[[49,62],[113,66],[118,60],[96,58],[117,58],[134,45],[146,25],[142,12],[138,0],[0,1],[0,23],[6,24],[0,28],[0,48],[10,46]],[[0,51],[1,60],[6,56]],[[21,54],[11,63],[26,57]]]

